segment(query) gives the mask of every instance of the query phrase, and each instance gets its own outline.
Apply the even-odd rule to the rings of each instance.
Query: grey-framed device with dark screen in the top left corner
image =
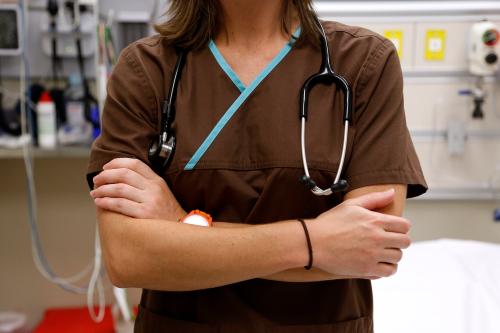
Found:
[[[0,3],[0,56],[18,56],[22,51],[21,12],[15,4]]]

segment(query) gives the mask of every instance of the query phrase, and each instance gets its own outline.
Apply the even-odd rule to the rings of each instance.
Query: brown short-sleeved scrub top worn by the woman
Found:
[[[334,69],[354,92],[344,171],[350,190],[397,183],[408,184],[408,197],[424,193],[393,45],[362,28],[335,22],[326,22],[325,28]],[[160,36],[142,39],[122,52],[109,80],[89,180],[117,157],[148,163],[148,146],[159,133],[160,109],[176,60],[173,48]],[[186,171],[190,158],[241,93],[208,47],[188,53],[173,124],[177,150],[162,175],[186,211],[201,209],[216,221],[261,224],[314,218],[342,202],[344,194],[317,197],[299,183],[299,91],[320,64],[319,48],[293,47],[194,170]],[[309,110],[309,167],[313,179],[326,188],[335,178],[342,146],[342,93],[334,86],[316,87]],[[135,332],[368,333],[373,331],[372,314],[368,280],[252,279],[189,292],[144,290]]]

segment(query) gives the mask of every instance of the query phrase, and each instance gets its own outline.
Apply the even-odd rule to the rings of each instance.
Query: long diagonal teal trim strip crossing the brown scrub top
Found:
[[[194,153],[193,157],[191,157],[191,160],[188,162],[188,164],[186,164],[186,166],[184,167],[184,170],[193,170],[196,167],[196,164],[198,164],[198,162],[203,157],[203,155],[205,155],[205,153],[208,150],[208,148],[210,148],[210,146],[212,145],[212,143],[214,142],[214,140],[217,138],[217,136],[222,131],[222,129],[227,125],[227,123],[229,122],[229,120],[231,120],[231,118],[234,116],[234,114],[236,113],[236,111],[238,111],[238,109],[243,105],[243,103],[245,103],[245,101],[252,94],[252,92],[259,86],[259,84],[261,84],[262,81],[264,81],[264,79],[273,71],[273,69],[276,68],[276,66],[278,66],[278,64],[292,50],[292,47],[293,47],[293,44],[294,44],[295,40],[300,35],[300,31],[301,31],[301,29],[299,27],[297,29],[297,31],[295,31],[293,33],[293,38],[285,45],[285,47],[283,47],[283,49],[278,53],[278,55],[276,57],[274,57],[274,59],[271,60],[271,62],[255,78],[255,80],[253,80],[253,82],[247,88],[245,88],[242,91],[241,95],[229,107],[229,109],[226,111],[226,113],[222,116],[222,118],[219,120],[219,122],[215,125],[215,127],[212,129],[212,131],[210,132],[210,134],[207,136],[207,138],[205,139],[205,141],[203,141],[203,143],[201,144],[201,146]],[[215,46],[215,43],[214,43],[214,46]],[[220,55],[220,58],[223,60],[224,58],[222,57],[222,55],[220,54],[220,52],[218,52],[218,54]],[[216,59],[217,59],[217,57],[216,57]],[[219,61],[219,60],[217,60],[217,61]],[[227,64],[227,62],[225,60],[223,61],[223,63]],[[228,67],[228,68],[231,69],[230,67]],[[226,70],[224,69],[224,71],[226,71]],[[233,71],[231,70],[231,72],[233,72]],[[234,76],[237,78],[236,74]],[[234,82],[234,80],[233,80],[233,82]]]

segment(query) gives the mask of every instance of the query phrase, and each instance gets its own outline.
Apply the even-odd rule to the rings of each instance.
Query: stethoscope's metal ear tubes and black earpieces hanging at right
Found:
[[[336,192],[344,192],[348,189],[349,185],[346,180],[341,179],[342,172],[344,170],[344,164],[347,154],[347,143],[349,138],[349,126],[352,116],[352,91],[349,82],[342,76],[336,74],[330,63],[330,51],[328,49],[328,39],[326,37],[325,30],[319,22],[316,21],[318,29],[321,34],[321,48],[322,48],[322,64],[319,72],[312,75],[304,83],[301,89],[300,95],[300,121],[301,121],[301,135],[300,135],[300,145],[302,152],[302,163],[304,166],[304,176],[301,178],[301,182],[309,189],[312,193],[317,196],[328,196]],[[344,94],[344,135],[342,142],[342,151],[340,155],[339,167],[337,169],[337,174],[335,176],[335,181],[330,186],[330,188],[324,190],[321,189],[316,182],[311,178],[309,173],[309,167],[307,164],[307,154],[306,154],[306,122],[308,116],[308,104],[309,104],[309,94],[312,88],[319,83],[335,83]]]

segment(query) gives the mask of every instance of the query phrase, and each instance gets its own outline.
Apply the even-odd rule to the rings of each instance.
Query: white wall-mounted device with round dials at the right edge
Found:
[[[484,78],[495,75],[499,69],[500,32],[490,21],[472,25],[469,36],[469,71],[476,77],[474,89],[470,94],[474,98],[474,119],[484,118],[483,106],[486,100]]]

